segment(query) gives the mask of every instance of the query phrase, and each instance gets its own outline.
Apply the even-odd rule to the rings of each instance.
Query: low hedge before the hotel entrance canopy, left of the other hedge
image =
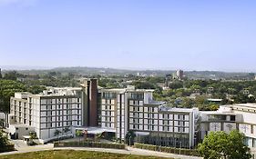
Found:
[[[97,148],[114,148],[126,149],[126,144],[112,144],[100,142],[55,142],[54,147],[97,147]]]

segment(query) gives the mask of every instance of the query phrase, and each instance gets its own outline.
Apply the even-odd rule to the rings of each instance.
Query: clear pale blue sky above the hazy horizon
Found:
[[[0,65],[256,72],[255,0],[0,0]]]

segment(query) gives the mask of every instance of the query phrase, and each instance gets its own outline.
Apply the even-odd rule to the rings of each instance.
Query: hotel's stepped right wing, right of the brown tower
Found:
[[[139,143],[193,147],[199,110],[169,108],[163,102],[153,101],[153,90],[102,89],[102,128],[116,131],[124,140],[129,130],[137,134]]]

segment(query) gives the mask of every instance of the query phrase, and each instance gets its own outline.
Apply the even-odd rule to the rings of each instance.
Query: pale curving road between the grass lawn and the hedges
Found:
[[[117,154],[150,155],[150,156],[175,158],[175,159],[202,159],[201,157],[160,153],[160,152],[142,150],[142,149],[132,148],[132,147],[128,147],[128,150],[92,148],[92,147],[54,148],[53,144],[43,144],[43,145],[36,145],[36,146],[21,146],[21,143],[17,142],[17,145],[15,144],[15,148],[17,149],[17,151],[15,151],[15,152],[8,152],[8,153],[0,154],[0,155],[23,154],[23,153],[29,153],[29,152],[46,151],[46,150],[76,150],[76,151],[81,150],[81,151],[96,151],[96,152],[117,153]]]

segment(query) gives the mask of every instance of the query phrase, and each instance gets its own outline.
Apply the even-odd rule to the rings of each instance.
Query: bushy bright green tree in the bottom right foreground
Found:
[[[250,159],[250,149],[243,143],[244,134],[233,130],[225,132],[210,132],[199,144],[198,151],[205,159]]]

